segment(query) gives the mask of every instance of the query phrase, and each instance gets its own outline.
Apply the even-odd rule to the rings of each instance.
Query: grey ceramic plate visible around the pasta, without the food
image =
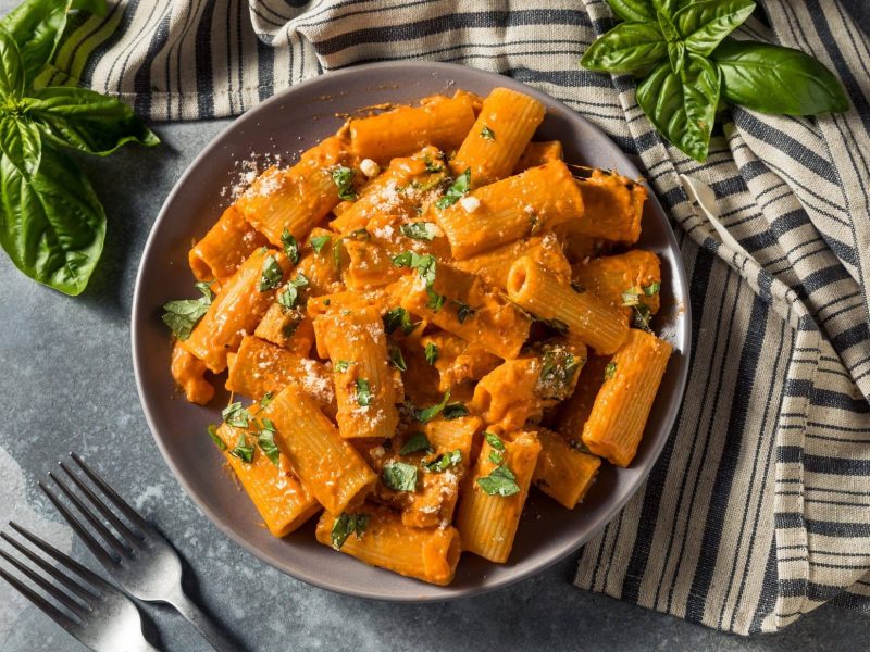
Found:
[[[605,465],[583,504],[572,512],[533,491],[508,564],[490,564],[467,554],[453,584],[435,587],[369,567],[321,546],[314,540],[313,523],[285,539],[271,537],[248,498],[226,477],[221,453],[206,435],[207,425],[220,421],[220,397],[210,408],[177,398],[169,372],[170,337],[160,321],[160,306],[195,293],[187,250],[191,239],[201,237],[221,214],[226,201],[221,189],[237,176],[238,160],[251,152],[293,153],[309,148],[338,128],[341,120],[335,114],[382,102],[413,102],[457,88],[486,95],[497,86],[544,102],[547,117],[537,137],[561,140],[568,161],[641,176],[598,128],[519,82],[440,63],[363,65],[299,84],[234,122],[178,180],[145,248],[133,302],[133,360],[142,409],[158,447],[178,481],[217,527],[264,562],[312,585],[365,598],[427,601],[480,593],[537,573],[576,551],[619,512],[649,473],[676,417],[688,372],[688,286],[668,218],[652,196],[644,215],[641,246],[662,260],[663,310],[654,326],[674,344],[675,353],[637,457],[626,469]]]

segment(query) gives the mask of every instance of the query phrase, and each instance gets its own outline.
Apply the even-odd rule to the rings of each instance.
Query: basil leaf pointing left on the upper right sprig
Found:
[[[580,64],[592,71],[631,73],[657,64],[668,43],[654,23],[621,23],[583,53]]]

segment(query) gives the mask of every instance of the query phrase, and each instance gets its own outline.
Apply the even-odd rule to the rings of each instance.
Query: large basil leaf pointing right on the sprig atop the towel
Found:
[[[786,115],[817,115],[849,108],[840,80],[800,50],[726,39],[712,59],[722,71],[722,95],[734,104]]]

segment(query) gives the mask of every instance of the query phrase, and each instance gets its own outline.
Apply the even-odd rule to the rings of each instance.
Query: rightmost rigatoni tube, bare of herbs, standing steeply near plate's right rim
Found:
[[[672,347],[655,335],[632,328],[613,355],[606,379],[583,428],[583,443],[617,466],[637,452]]]

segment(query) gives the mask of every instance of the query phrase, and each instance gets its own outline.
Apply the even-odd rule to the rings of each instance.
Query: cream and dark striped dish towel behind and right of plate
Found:
[[[187,120],[324,71],[431,59],[514,77],[600,126],[675,224],[693,371],[661,459],[575,582],[772,631],[828,601],[870,611],[870,51],[834,0],[762,4],[743,36],[815,54],[854,109],[735,109],[705,164],[657,137],[630,77],[579,66],[613,24],[604,0],[113,0],[71,26],[51,83]]]

